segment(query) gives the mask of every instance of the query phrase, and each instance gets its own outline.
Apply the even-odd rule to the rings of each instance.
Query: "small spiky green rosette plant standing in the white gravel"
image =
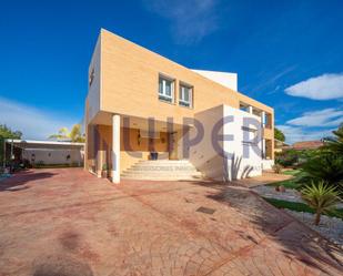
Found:
[[[330,212],[340,202],[340,193],[336,188],[326,185],[323,181],[312,182],[301,191],[301,194],[309,206],[315,209],[314,225],[320,224],[323,213]]]

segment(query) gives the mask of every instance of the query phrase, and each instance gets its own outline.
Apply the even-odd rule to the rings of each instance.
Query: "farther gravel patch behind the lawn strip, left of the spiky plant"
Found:
[[[275,187],[264,185],[253,187],[252,190],[263,197],[304,203],[304,201],[301,198],[300,192],[293,188],[286,188],[285,192],[276,192]],[[336,207],[343,208],[343,203],[339,203]]]

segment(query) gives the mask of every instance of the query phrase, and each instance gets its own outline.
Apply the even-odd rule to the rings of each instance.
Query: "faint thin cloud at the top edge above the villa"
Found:
[[[178,43],[192,44],[218,29],[218,0],[143,0],[147,9],[171,21]]]

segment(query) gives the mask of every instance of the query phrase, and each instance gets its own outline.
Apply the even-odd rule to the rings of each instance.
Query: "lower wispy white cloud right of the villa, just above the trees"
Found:
[[[343,110],[325,109],[321,111],[305,112],[302,116],[286,122],[296,126],[337,126],[343,123]]]

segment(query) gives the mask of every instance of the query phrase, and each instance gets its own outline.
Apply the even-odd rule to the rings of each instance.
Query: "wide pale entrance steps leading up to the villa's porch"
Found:
[[[202,174],[186,160],[147,160],[125,170],[121,177],[150,181],[201,181]]]

